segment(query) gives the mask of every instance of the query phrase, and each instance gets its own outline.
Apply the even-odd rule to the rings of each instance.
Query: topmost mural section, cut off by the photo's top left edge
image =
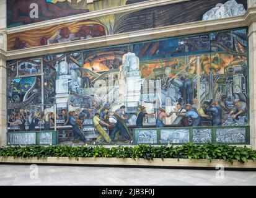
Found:
[[[87,4],[87,0],[8,0],[7,27],[32,24],[143,1],[148,0],[97,0],[90,4]],[[38,17],[32,18],[30,12],[33,13],[35,4],[38,6]]]

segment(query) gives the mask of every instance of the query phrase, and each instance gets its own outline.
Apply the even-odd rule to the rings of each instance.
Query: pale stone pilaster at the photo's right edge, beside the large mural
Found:
[[[256,149],[256,22],[249,26],[250,144]]]

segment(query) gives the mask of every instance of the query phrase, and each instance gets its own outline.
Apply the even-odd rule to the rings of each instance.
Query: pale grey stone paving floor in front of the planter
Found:
[[[256,171],[0,165],[1,186],[256,185]]]

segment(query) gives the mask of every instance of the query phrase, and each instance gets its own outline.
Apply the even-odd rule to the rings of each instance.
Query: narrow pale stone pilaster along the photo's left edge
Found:
[[[0,0],[0,146],[6,145],[6,0]]]

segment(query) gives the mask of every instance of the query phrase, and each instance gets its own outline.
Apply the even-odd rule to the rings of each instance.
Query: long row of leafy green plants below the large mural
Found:
[[[256,150],[247,147],[235,147],[220,144],[185,144],[174,147],[173,145],[151,146],[136,145],[135,147],[99,147],[99,146],[27,146],[27,147],[0,147],[1,157],[15,158],[47,158],[47,157],[116,157],[116,158],[188,158],[188,159],[222,159],[233,163],[238,160],[241,163],[247,160],[256,160]]]

